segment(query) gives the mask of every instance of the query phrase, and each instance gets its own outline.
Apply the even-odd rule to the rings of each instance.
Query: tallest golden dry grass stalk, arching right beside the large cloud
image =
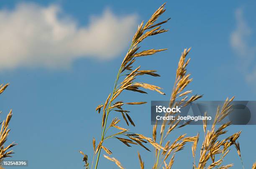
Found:
[[[151,138],[145,137],[142,134],[136,134],[136,133],[126,133],[128,129],[125,129],[123,127],[119,127],[116,124],[120,121],[117,118],[113,119],[110,125],[108,125],[108,117],[111,111],[115,112],[120,112],[120,116],[123,117],[124,121],[126,124],[129,126],[129,124],[135,126],[135,123],[133,122],[133,119],[131,115],[129,115],[129,111],[123,109],[124,107],[124,102],[123,101],[115,101],[118,96],[124,91],[124,90],[130,90],[133,92],[139,92],[139,93],[146,93],[143,91],[143,89],[149,89],[156,91],[160,94],[164,94],[164,92],[161,92],[161,87],[147,84],[144,82],[137,82],[136,79],[139,76],[143,75],[150,75],[152,77],[159,77],[156,73],[156,70],[140,70],[141,66],[138,66],[137,68],[133,69],[133,64],[136,61],[137,57],[144,57],[148,55],[154,55],[158,52],[164,51],[166,49],[148,49],[148,50],[143,50],[139,52],[139,44],[145,40],[147,37],[153,36],[153,35],[158,35],[163,32],[167,32],[167,30],[161,29],[161,25],[166,23],[169,19],[164,20],[162,22],[156,23],[158,20],[159,16],[165,12],[164,9],[165,4],[161,5],[158,10],[151,16],[151,18],[144,24],[144,22],[141,22],[141,24],[138,26],[138,29],[133,36],[131,46],[125,55],[123,62],[121,63],[120,69],[118,70],[118,74],[115,80],[114,84],[114,89],[113,92],[110,93],[105,101],[105,104],[100,104],[99,106],[96,107],[96,111],[98,113],[101,112],[101,109],[103,107],[102,111],[102,134],[100,138],[100,142],[95,150],[94,156],[97,154],[97,160],[95,163],[95,169],[97,169],[97,165],[99,162],[100,158],[100,152],[101,149],[104,149],[105,152],[110,154],[110,151],[106,148],[103,147],[102,144],[105,140],[109,138],[115,138],[121,141],[123,144],[125,144],[128,147],[131,147],[130,144],[138,144],[141,147],[149,149],[145,147],[143,144],[149,142],[151,145],[153,145],[156,149],[164,149],[161,145],[157,144],[154,140]],[[124,79],[120,80],[121,75],[124,75]],[[122,76],[123,77],[123,76]],[[115,103],[114,103],[115,101]],[[127,102],[125,103],[126,105],[136,105],[136,104],[146,104],[146,102]],[[106,133],[108,129],[110,128],[116,128],[122,130],[121,132],[112,134],[110,136],[106,136]],[[119,135],[128,137],[123,138],[123,137],[118,137]],[[95,142],[95,141],[94,141]],[[93,143],[94,149],[95,149],[95,143]],[[106,157],[107,158],[107,157]],[[93,157],[94,159],[94,157]],[[113,158],[111,158],[113,160]],[[92,162],[92,167],[93,167],[93,162]]]

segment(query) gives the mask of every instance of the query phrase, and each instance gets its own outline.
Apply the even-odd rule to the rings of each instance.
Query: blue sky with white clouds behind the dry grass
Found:
[[[95,113],[95,107],[112,91],[136,26],[163,2],[1,2],[0,83],[10,82],[0,97],[1,119],[13,109],[8,139],[18,143],[13,159],[28,160],[28,169],[82,168],[78,150],[92,154],[92,137],[100,138],[101,116]],[[192,47],[188,72],[193,82],[188,89],[204,94],[202,100],[224,100],[233,95],[236,100],[255,100],[255,5],[253,0],[167,1],[161,19],[172,18],[164,25],[169,32],[142,45],[169,50],[137,62],[145,70],[158,70],[158,79],[142,80],[163,87],[166,96],[125,92],[121,99],[168,100],[180,54]],[[98,35],[102,36],[95,38]],[[136,123],[131,131],[151,136],[149,104],[133,107],[131,112]],[[229,128],[230,134],[242,130],[239,142],[245,168],[256,160],[256,147],[251,146],[255,144],[251,134],[255,129]],[[190,126],[173,136],[183,132],[195,135],[198,131],[202,133],[201,127]],[[116,140],[106,144],[124,167],[139,167],[139,150],[146,168],[151,168],[154,153],[125,147]],[[234,163],[233,168],[239,169],[241,163],[234,149],[225,164]],[[177,154],[174,168],[177,166],[191,168],[190,145]],[[117,168],[103,157],[99,167]]]

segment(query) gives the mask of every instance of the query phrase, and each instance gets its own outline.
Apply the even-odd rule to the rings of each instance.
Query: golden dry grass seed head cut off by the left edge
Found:
[[[0,85],[0,94],[3,93],[3,91],[8,87],[9,83],[4,85]],[[1,113],[1,112],[0,112]],[[13,146],[15,146],[16,144],[11,143],[8,146],[5,147],[5,142],[7,141],[7,137],[9,135],[10,129],[9,129],[9,122],[10,119],[12,117],[12,110],[10,110],[10,112],[8,113],[7,117],[5,120],[3,120],[3,122],[1,122],[0,124],[2,124],[1,130],[0,130],[0,162],[3,161],[4,158],[6,157],[11,157],[11,154],[13,154],[13,150],[10,150],[10,148],[12,148]]]

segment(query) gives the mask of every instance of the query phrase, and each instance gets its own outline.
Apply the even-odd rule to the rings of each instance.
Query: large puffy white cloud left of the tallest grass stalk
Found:
[[[78,57],[115,57],[128,46],[136,18],[119,17],[106,9],[80,27],[58,5],[23,3],[13,10],[1,9],[0,69],[65,68]]]

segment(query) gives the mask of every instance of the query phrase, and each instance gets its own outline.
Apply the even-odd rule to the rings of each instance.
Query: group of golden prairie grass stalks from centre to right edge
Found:
[[[222,165],[224,157],[229,153],[229,148],[231,146],[234,146],[236,148],[238,156],[241,159],[241,164],[243,165],[240,145],[237,142],[237,139],[240,137],[241,131],[234,133],[226,137],[225,139],[220,139],[221,135],[227,134],[227,131],[225,129],[230,126],[231,123],[227,122],[220,127],[216,126],[218,122],[228,116],[228,114],[230,114],[230,112],[232,111],[231,102],[233,101],[234,97],[232,97],[231,99],[227,98],[225,100],[225,103],[221,107],[218,107],[218,109],[216,110],[216,117],[214,119],[214,123],[211,126],[207,125],[206,120],[203,122],[202,127],[204,131],[204,137],[202,137],[203,142],[201,145],[200,154],[198,154],[198,162],[196,161],[196,149],[198,147],[197,144],[200,139],[199,133],[197,133],[195,136],[187,136],[187,134],[181,134],[179,137],[174,139],[173,142],[169,139],[173,130],[180,127],[185,127],[187,124],[189,124],[189,122],[183,125],[179,125],[180,121],[177,119],[173,120],[171,123],[163,121],[160,128],[158,128],[158,125],[156,124],[153,126],[152,138],[146,137],[143,134],[130,132],[130,129],[128,128],[129,125],[131,124],[132,126],[135,126],[136,124],[134,124],[132,120],[132,114],[129,110],[126,109],[126,107],[128,105],[146,104],[146,102],[123,102],[118,99],[118,96],[124,90],[145,94],[147,92],[144,89],[154,90],[159,94],[165,95],[164,92],[161,91],[161,87],[137,81],[138,77],[145,75],[159,77],[160,75],[156,73],[156,70],[141,70],[141,66],[133,68],[133,63],[136,62],[137,57],[154,55],[158,52],[166,50],[148,49],[139,51],[140,43],[147,37],[158,35],[168,31],[162,29],[161,26],[164,23],[168,22],[169,19],[157,22],[159,17],[165,12],[164,7],[165,3],[161,5],[161,7],[156,10],[156,12],[154,12],[154,14],[147,22],[141,22],[141,24],[138,25],[138,29],[132,38],[131,46],[118,70],[113,91],[108,95],[105,103],[99,104],[95,109],[96,112],[102,115],[102,133],[98,140],[96,140],[95,138],[92,139],[92,147],[94,153],[91,156],[92,162],[90,164],[87,154],[84,154],[84,152],[80,151],[80,153],[83,155],[83,161],[85,163],[84,167],[86,169],[97,169],[100,162],[100,155],[102,153],[102,149],[106,154],[108,154],[104,154],[103,157],[112,162],[115,162],[115,164],[120,169],[124,168],[122,164],[118,161],[118,159],[116,159],[115,157],[110,157],[112,155],[112,151],[109,148],[105,147],[105,141],[110,138],[114,138],[128,147],[131,147],[131,145],[138,145],[148,151],[150,150],[144,144],[151,144],[155,149],[155,163],[153,165],[153,169],[171,169],[174,164],[175,154],[184,149],[185,145],[189,142],[192,143],[192,158],[194,158],[194,162],[191,168],[193,169],[228,169],[229,167],[232,167],[233,164],[228,164],[225,166]],[[172,94],[170,97],[169,107],[175,107],[179,105],[186,106],[202,97],[202,95],[198,94],[192,95],[192,90],[186,90],[187,85],[192,82],[190,74],[187,73],[187,65],[189,64],[190,59],[186,59],[190,50],[191,48],[184,49],[180,57],[177,66],[174,87],[172,89]],[[120,115],[119,117],[115,117],[110,120],[109,114],[111,112],[119,112]],[[205,114],[206,113],[207,112],[205,112]],[[166,115],[169,114],[167,113]],[[127,124],[127,127],[121,127],[118,124],[121,119],[124,120],[124,122]],[[115,128],[119,131],[115,133],[110,133],[107,136],[106,134],[107,132],[109,132],[110,128]],[[218,159],[218,157],[220,158]],[[151,168],[150,166],[146,166],[146,164],[144,164],[139,152],[138,159],[141,169]],[[252,168],[255,169],[256,164],[253,164]]]

